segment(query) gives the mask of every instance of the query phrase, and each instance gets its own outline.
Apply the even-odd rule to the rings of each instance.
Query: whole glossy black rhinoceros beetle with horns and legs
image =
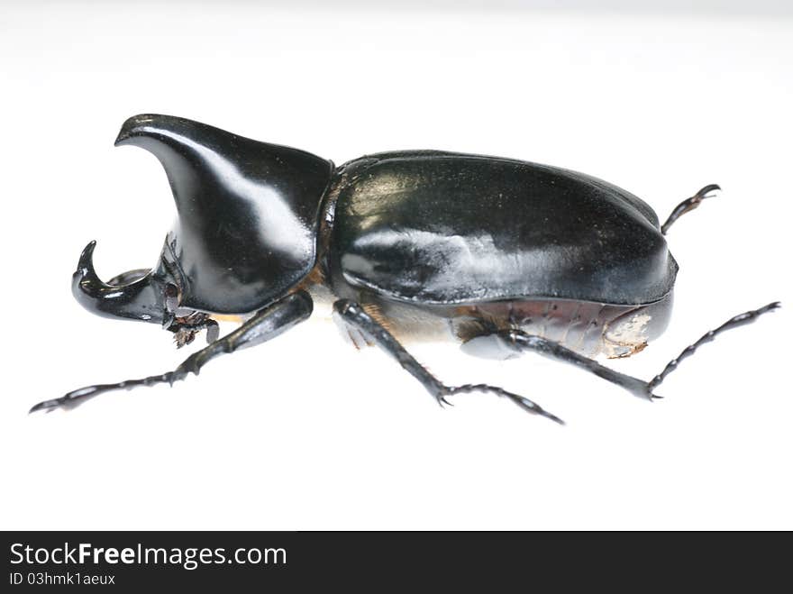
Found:
[[[595,357],[640,352],[666,328],[678,264],[664,236],[716,185],[659,224],[650,206],[620,187],[520,160],[396,151],[335,167],[305,151],[156,114],[127,120],[115,143],[160,160],[178,220],[153,269],[108,282],[96,276],[90,242],[74,296],[98,315],[160,324],[178,346],[205,329],[209,344],[176,370],[80,388],[32,411],[173,384],[304,321],[312,295],[330,289],[333,314],[352,341],[378,344],[439,403],[490,392],[561,422],[503,388],[443,384],[397,337],[433,330],[482,356],[539,352],[651,399],[702,343],[779,306],[734,316],[644,381]],[[218,338],[213,316],[230,314],[244,322]]]

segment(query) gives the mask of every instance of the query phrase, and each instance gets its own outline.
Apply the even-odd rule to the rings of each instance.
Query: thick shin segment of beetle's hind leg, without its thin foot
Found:
[[[573,365],[577,365],[582,369],[594,373],[599,378],[606,379],[606,381],[610,381],[617,386],[625,388],[633,394],[633,396],[644,399],[652,398],[650,385],[643,379],[633,378],[619,371],[612,370],[605,365],[601,365],[594,359],[589,359],[578,352],[570,351],[570,349],[563,347],[560,343],[542,338],[542,336],[526,334],[522,330],[501,330],[495,334],[506,343],[509,348],[515,351],[538,352],[541,355],[556,359],[557,361],[572,363]]]

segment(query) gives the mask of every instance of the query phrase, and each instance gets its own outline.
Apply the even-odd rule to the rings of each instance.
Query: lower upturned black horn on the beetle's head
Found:
[[[161,324],[165,317],[162,292],[152,283],[151,270],[127,285],[109,285],[96,276],[94,248],[90,242],[80,254],[72,275],[72,293],[91,313]]]

